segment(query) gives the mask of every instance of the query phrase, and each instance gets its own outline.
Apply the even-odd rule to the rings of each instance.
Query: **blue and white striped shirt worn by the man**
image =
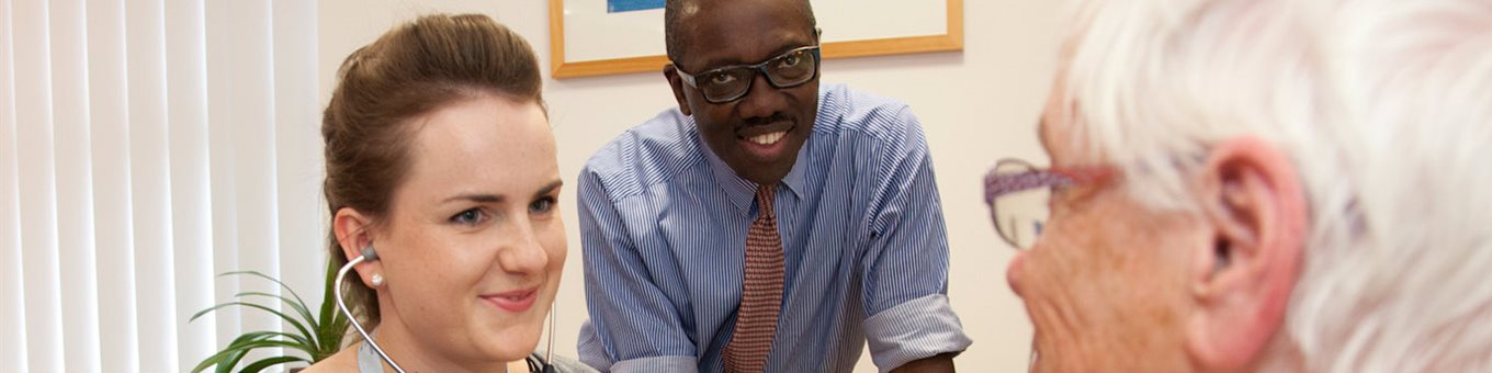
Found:
[[[580,360],[612,372],[721,372],[736,328],[756,185],[668,109],[579,178]],[[785,192],[788,191],[788,192]],[[906,104],[821,88],[776,200],[783,304],[767,372],[882,372],[968,348],[947,301],[947,237],[922,127]]]

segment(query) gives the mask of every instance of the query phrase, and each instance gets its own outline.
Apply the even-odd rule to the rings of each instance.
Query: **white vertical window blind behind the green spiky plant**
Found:
[[[319,306],[316,66],[313,0],[0,0],[0,372],[182,372],[282,330],[188,324],[282,292],[224,272]]]

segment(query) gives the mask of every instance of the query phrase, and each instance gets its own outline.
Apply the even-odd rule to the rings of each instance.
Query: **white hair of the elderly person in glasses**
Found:
[[[1080,1],[1058,97],[1086,161],[1197,209],[1210,143],[1310,198],[1288,342],[1311,372],[1492,372],[1492,1]]]

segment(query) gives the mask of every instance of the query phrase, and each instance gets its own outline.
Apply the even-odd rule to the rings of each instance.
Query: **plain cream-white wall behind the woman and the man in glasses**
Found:
[[[964,372],[1024,370],[1031,327],[1006,286],[1012,257],[989,222],[983,204],[983,172],[1003,157],[1043,161],[1035,119],[1055,70],[1061,1],[964,1],[962,52],[828,60],[824,82],[897,97],[922,118],[947,219],[952,246],[949,295],[974,345],[956,363]],[[337,64],[404,19],[433,12],[482,12],[507,24],[536,46],[549,66],[549,4],[524,0],[322,0],[319,7],[321,100],[334,84]],[[548,76],[548,72],[546,72]],[[674,104],[661,73],[548,79],[545,95],[560,142],[565,184],[591,152],[625,128]],[[560,289],[557,349],[574,355],[576,330],[585,318],[579,218],[574,189],[564,197],[570,228],[570,261]],[[862,358],[856,372],[874,372]]]

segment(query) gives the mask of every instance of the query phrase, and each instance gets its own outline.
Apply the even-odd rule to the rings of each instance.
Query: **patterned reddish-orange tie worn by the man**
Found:
[[[725,343],[725,372],[758,373],[767,369],[771,336],[777,333],[782,307],[782,237],[771,212],[776,185],[756,189],[756,221],[746,233],[746,276],[742,282],[742,307],[736,315],[736,334]]]

